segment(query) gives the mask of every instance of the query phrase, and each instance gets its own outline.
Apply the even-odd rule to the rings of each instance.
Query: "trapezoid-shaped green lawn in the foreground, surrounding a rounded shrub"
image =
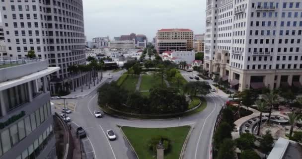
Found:
[[[152,157],[154,154],[148,148],[148,142],[156,136],[167,137],[170,140],[170,150],[168,153],[164,153],[164,159],[179,159],[190,126],[174,128],[122,127],[122,130],[140,159],[154,159]]]

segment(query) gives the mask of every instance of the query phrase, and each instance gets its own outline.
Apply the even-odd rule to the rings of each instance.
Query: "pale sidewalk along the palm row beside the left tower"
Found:
[[[78,97],[83,97],[86,96],[88,94],[90,94],[93,90],[95,90],[97,87],[99,87],[102,83],[104,83],[105,81],[108,80],[109,75],[108,74],[112,74],[112,71],[106,71],[103,72],[103,79],[101,81],[99,81],[99,83],[97,84],[97,78],[95,79],[95,86],[93,86],[93,80],[90,84],[90,89],[89,86],[86,86],[86,84],[83,85],[83,91],[81,92],[81,86],[79,86],[78,88],[75,88],[74,90],[71,90],[71,93],[65,96],[61,96],[62,99],[69,99],[69,98],[78,98]],[[99,73],[100,74],[100,73]]]

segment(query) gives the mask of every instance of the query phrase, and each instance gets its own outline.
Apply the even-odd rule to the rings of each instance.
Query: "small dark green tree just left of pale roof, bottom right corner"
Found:
[[[274,138],[272,137],[271,132],[268,130],[266,131],[265,135],[262,136],[262,140],[260,141],[260,150],[262,153],[265,154],[265,159],[266,155],[269,154],[269,152],[273,149],[274,145]]]

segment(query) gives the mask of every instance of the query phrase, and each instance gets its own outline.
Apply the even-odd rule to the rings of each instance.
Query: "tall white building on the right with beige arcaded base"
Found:
[[[240,91],[302,87],[301,0],[207,0],[204,68]]]

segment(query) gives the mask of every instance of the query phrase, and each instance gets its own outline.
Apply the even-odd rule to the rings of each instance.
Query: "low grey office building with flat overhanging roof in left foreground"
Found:
[[[57,159],[48,80],[60,68],[36,60],[1,61],[0,159]]]

